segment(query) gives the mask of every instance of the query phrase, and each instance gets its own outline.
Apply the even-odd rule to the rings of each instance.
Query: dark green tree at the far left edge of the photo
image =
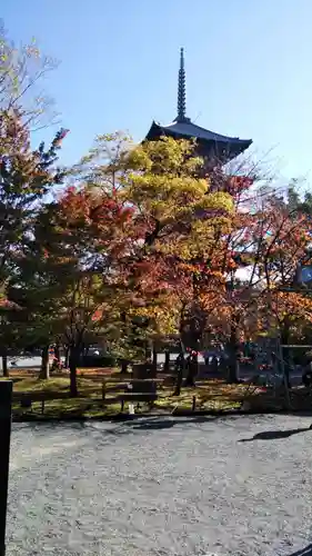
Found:
[[[56,168],[56,161],[67,131],[61,129],[48,149],[41,143],[33,150],[29,127],[21,113],[11,109],[0,113],[0,285],[8,296],[11,286],[17,286],[19,261],[32,236],[40,205],[62,181],[63,172]],[[8,319],[6,322],[9,325]],[[12,334],[1,335],[4,356],[10,338],[16,341]]]

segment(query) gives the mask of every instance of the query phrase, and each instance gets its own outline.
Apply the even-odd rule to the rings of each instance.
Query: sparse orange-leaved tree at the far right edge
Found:
[[[270,228],[262,245],[260,270],[263,274],[262,312],[266,322],[275,326],[281,344],[288,346],[294,329],[309,324],[312,300],[300,280],[302,266],[311,265],[310,215],[293,199],[275,198],[265,208]],[[283,349],[285,370],[289,373],[289,349]]]

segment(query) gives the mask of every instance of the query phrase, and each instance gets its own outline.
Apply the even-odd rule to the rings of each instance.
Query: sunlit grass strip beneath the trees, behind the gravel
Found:
[[[41,416],[42,403],[36,401],[40,395],[47,394],[44,401],[44,411],[41,418],[101,418],[110,417],[120,413],[121,404],[117,399],[120,391],[118,388],[110,387],[117,386],[115,381],[110,383],[109,378],[120,378],[120,383],[127,381],[127,376],[120,375],[117,369],[79,369],[78,374],[78,391],[77,398],[70,398],[70,379],[69,374],[63,373],[53,376],[49,380],[41,380],[38,378],[38,373],[17,371],[11,375],[13,380],[13,415],[22,417],[26,413],[29,415]],[[129,378],[129,375],[128,375]],[[162,375],[159,375],[162,378]],[[102,383],[105,379],[107,395],[103,403],[102,397]],[[158,400],[153,404],[153,411],[169,411],[174,410],[191,410],[193,406],[193,397],[195,397],[195,410],[233,410],[239,409],[242,399],[245,397],[248,387],[244,385],[227,385],[222,380],[200,380],[197,383],[195,388],[182,388],[181,395],[173,396],[173,386],[161,385],[158,387]],[[20,406],[20,395],[33,395],[32,408],[23,409]],[[16,395],[16,396],[14,396]],[[53,395],[56,396],[53,398]],[[58,399],[58,396],[63,396]],[[14,399],[16,398],[16,399]],[[140,403],[137,406],[134,403],[135,413],[150,413],[151,407],[147,403]],[[124,404],[124,411],[128,413],[128,403]]]

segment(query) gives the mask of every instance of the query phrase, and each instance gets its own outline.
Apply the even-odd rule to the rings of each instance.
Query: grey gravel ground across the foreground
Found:
[[[311,556],[310,423],[16,424],[7,556]]]

